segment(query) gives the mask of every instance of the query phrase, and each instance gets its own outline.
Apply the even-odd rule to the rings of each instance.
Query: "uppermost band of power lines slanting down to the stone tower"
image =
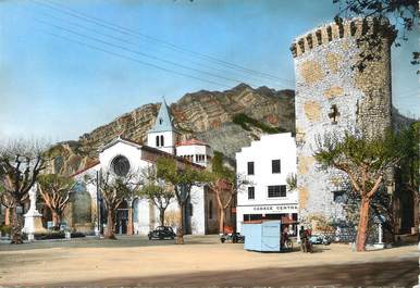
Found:
[[[223,66],[225,66],[227,68],[231,68],[231,70],[239,70],[243,73],[248,73],[248,74],[251,74],[252,76],[265,77],[265,78],[270,78],[270,79],[274,79],[274,80],[286,82],[289,85],[294,85],[293,80],[280,78],[277,76],[274,76],[274,75],[271,75],[271,74],[268,74],[268,73],[262,73],[262,72],[258,72],[258,71],[255,71],[255,70],[246,68],[244,66],[240,66],[240,65],[237,65],[237,64],[234,64],[234,63],[230,63],[230,62],[226,62],[226,61],[223,61],[223,60],[219,60],[219,59],[217,59],[214,57],[211,57],[211,55],[208,55],[208,54],[205,54],[205,53],[195,52],[195,51],[182,48],[180,46],[173,45],[171,42],[163,41],[163,40],[150,37],[150,36],[146,35],[146,34],[141,34],[141,33],[137,32],[137,30],[134,30],[134,29],[131,29],[131,28],[127,28],[127,27],[123,27],[121,25],[113,24],[111,22],[108,22],[108,21],[95,17],[95,16],[88,15],[86,13],[79,12],[79,11],[71,9],[69,7],[55,3],[53,1],[49,1],[49,0],[44,0],[45,2],[39,1],[39,0],[32,0],[32,1],[36,2],[38,4],[41,4],[44,7],[47,7],[49,9],[55,10],[55,11],[58,11],[60,13],[64,13],[64,14],[71,15],[73,17],[76,17],[76,18],[89,22],[91,24],[98,25],[100,27],[112,29],[114,32],[124,34],[126,36],[133,36],[133,35],[139,36],[141,38],[147,39],[148,41],[151,41],[151,42],[155,42],[155,43],[158,43],[158,45],[162,45],[162,46],[164,46],[164,47],[166,47],[169,49],[172,49],[172,50],[175,50],[175,51],[178,51],[178,52],[184,52],[184,53],[192,54],[194,57],[198,57],[198,58],[200,58],[202,60],[215,63],[218,65],[223,65]]]

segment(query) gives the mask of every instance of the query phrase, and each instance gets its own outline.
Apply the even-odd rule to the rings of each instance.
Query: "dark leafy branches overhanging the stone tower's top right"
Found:
[[[406,33],[417,26],[419,18],[418,0],[333,0],[339,4],[339,11],[334,20],[337,24],[343,23],[343,17],[362,16],[363,18],[391,18],[397,26],[391,29],[381,27],[373,33],[363,35],[359,41],[359,47],[366,47],[360,51],[360,61],[356,67],[362,71],[367,62],[375,61],[381,58],[382,37],[390,36],[396,47],[400,41],[407,40]],[[402,28],[398,29],[398,25]],[[412,64],[419,64],[419,52],[412,52]]]

